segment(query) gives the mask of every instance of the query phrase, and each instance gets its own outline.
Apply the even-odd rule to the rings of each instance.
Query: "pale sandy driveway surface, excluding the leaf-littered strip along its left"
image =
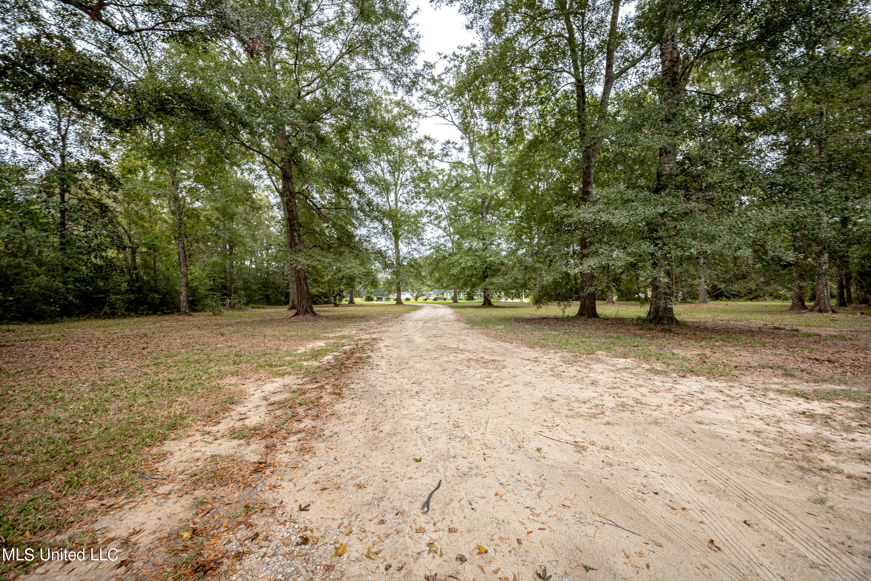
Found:
[[[543,565],[554,580],[871,578],[868,491],[757,437],[814,436],[800,414],[822,404],[722,387],[564,360],[422,307],[266,493],[287,513],[234,578],[526,580]],[[837,462],[868,476],[860,436]]]

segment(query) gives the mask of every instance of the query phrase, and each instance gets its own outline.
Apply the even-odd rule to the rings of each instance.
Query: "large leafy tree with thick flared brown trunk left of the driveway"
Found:
[[[283,0],[246,4],[233,15],[233,41],[219,44],[203,76],[241,111],[233,141],[277,177],[294,314],[315,314],[304,237],[331,220],[328,193],[335,190],[325,180],[334,176],[325,174],[341,172],[336,148],[349,125],[368,117],[377,79],[408,77],[417,44],[407,4]]]

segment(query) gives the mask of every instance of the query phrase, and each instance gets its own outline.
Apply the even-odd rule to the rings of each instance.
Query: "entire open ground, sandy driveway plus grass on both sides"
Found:
[[[512,307],[6,328],[4,534],[124,551],[33,578],[871,575],[871,318]]]

